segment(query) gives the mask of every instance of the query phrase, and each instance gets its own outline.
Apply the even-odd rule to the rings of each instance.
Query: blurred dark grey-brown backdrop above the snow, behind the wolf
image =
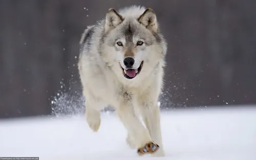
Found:
[[[63,94],[80,102],[81,33],[130,5],[153,8],[168,42],[162,107],[256,103],[254,0],[2,0],[0,118],[50,115]]]

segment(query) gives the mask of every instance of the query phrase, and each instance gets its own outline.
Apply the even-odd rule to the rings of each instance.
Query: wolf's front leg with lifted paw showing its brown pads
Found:
[[[120,105],[116,111],[129,136],[131,136],[131,139],[133,139],[138,148],[139,155],[157,151],[159,146],[151,140],[150,133],[136,116],[132,105]]]

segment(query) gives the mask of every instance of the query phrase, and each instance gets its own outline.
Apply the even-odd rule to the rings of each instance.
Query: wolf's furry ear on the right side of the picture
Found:
[[[138,21],[147,29],[154,32],[158,31],[157,16],[153,9],[147,8],[144,13],[139,16]]]

